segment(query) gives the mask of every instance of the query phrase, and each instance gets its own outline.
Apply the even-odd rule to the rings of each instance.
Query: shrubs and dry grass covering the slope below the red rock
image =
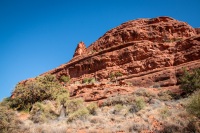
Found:
[[[119,73],[114,73],[113,75],[115,78],[122,76]],[[88,78],[83,80],[83,82],[92,83],[95,82],[95,79]],[[197,90],[195,89],[193,95],[188,98],[186,109],[190,114],[194,114],[199,118],[200,93]],[[57,130],[54,129],[54,131],[61,132],[65,132],[68,128],[71,128],[72,131],[81,129],[97,131],[97,129],[101,128],[108,132],[140,132],[148,129],[158,132],[158,130],[154,130],[153,126],[151,126],[153,121],[164,124],[161,125],[163,126],[161,132],[198,131],[198,118],[195,117],[196,119],[193,122],[193,126],[191,126],[191,120],[184,120],[191,119],[193,116],[186,112],[184,107],[176,106],[179,103],[172,100],[172,93],[162,90],[157,91],[159,91],[159,93],[151,92],[148,88],[138,88],[132,94],[115,95],[107,98],[103,101],[103,106],[99,108],[96,103],[85,104],[81,98],[70,99],[69,92],[62,87],[54,76],[47,75],[47,77],[37,77],[24,84],[19,84],[14,91],[15,93],[13,93],[13,98],[6,98],[0,104],[0,117],[2,120],[8,120],[8,123],[11,123],[11,125],[8,125],[0,120],[0,123],[4,122],[3,125],[0,124],[0,131],[51,132],[53,129],[50,126],[48,129],[45,129],[47,127],[45,123],[54,126],[51,123],[54,121],[60,123]],[[38,94],[36,94],[36,92]],[[18,98],[21,101],[18,100]],[[1,106],[4,106],[4,110],[8,111],[2,112]],[[25,126],[22,128],[19,126],[20,124],[16,119],[11,120],[11,118],[16,117],[16,115],[12,109],[9,109],[9,106],[17,110],[25,109],[30,111],[29,119],[32,123],[30,123],[29,127]],[[175,112],[177,111],[177,107],[181,107],[179,111],[185,111],[185,113],[183,115],[178,115]],[[62,116],[62,110],[64,110],[64,116],[60,117]],[[11,114],[9,115],[6,113]],[[159,115],[154,116],[155,119],[153,117],[149,119],[149,117],[154,114]],[[9,115],[9,118],[4,119],[3,117],[8,117],[7,115]],[[124,119],[127,118],[131,120],[132,124],[124,121]],[[63,122],[65,126],[63,126],[61,122]],[[103,124],[109,122],[114,123],[115,126]],[[35,126],[37,123],[39,123],[40,126]],[[79,125],[78,127],[77,124]],[[170,129],[168,129],[168,127],[170,127]]]

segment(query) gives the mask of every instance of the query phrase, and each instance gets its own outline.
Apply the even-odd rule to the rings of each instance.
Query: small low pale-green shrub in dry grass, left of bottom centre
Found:
[[[85,119],[88,115],[89,115],[89,111],[87,110],[87,108],[82,107],[78,109],[77,111],[71,113],[67,121],[72,122],[76,119]]]

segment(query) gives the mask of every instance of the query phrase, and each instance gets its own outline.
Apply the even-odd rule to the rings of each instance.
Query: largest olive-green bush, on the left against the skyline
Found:
[[[18,84],[13,91],[11,107],[17,110],[30,110],[32,105],[43,100],[55,100],[59,94],[67,94],[53,75],[39,76],[24,84]]]

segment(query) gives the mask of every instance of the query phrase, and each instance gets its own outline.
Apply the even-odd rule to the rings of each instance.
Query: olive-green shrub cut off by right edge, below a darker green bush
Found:
[[[188,98],[186,109],[188,112],[200,118],[200,90],[194,92]]]

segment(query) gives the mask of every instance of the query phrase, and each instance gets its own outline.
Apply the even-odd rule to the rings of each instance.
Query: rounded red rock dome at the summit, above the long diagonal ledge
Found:
[[[114,45],[141,40],[164,43],[178,41],[193,35],[196,35],[195,29],[185,22],[170,17],[137,19],[106,32],[88,49],[99,51]]]

